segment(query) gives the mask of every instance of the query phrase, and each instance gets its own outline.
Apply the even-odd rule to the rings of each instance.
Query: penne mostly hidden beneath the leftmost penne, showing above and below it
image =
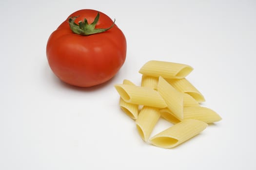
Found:
[[[123,80],[124,85],[135,85],[129,80]],[[119,100],[119,106],[123,110],[124,113],[126,113],[130,118],[137,119],[138,117],[138,104],[131,104],[128,102],[125,102],[121,97]]]

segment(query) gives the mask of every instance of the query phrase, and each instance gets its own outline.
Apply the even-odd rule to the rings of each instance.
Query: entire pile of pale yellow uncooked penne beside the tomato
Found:
[[[173,148],[202,132],[208,123],[221,120],[215,111],[200,105],[203,95],[185,78],[192,70],[185,64],[153,60],[139,70],[141,86],[129,80],[115,85],[119,106],[136,120],[144,141]],[[151,137],[160,117],[173,125]]]

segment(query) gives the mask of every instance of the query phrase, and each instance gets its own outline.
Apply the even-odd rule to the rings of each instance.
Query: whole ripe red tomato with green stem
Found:
[[[54,74],[80,87],[99,85],[114,77],[126,58],[126,39],[114,22],[90,9],[71,14],[47,42],[47,60]]]

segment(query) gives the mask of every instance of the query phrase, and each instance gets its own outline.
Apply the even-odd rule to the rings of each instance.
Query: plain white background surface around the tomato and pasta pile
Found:
[[[127,58],[111,81],[83,89],[55,77],[45,49],[86,8],[116,18]],[[256,1],[1,0],[0,17],[0,170],[256,169]],[[191,65],[188,80],[222,120],[174,149],[143,142],[114,85],[139,85],[149,60]]]

